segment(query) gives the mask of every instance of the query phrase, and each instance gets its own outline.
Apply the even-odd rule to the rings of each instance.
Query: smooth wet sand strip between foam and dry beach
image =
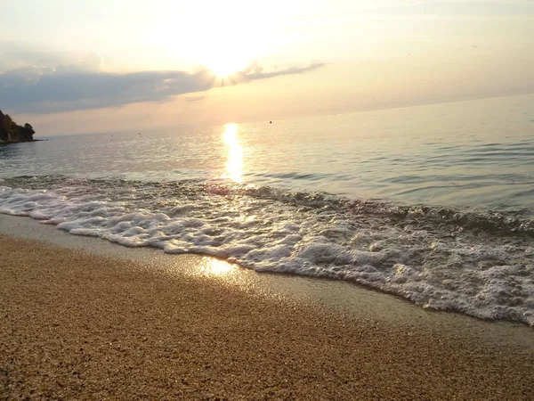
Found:
[[[5,234],[23,240],[41,241],[55,247],[79,250],[85,253],[112,258],[122,258],[134,263],[141,263],[150,268],[167,270],[168,266],[180,266],[180,274],[187,276],[206,275],[209,261],[221,264],[223,270],[231,274],[209,274],[212,278],[225,283],[233,283],[241,288],[258,293],[270,294],[274,298],[305,300],[308,303],[338,310],[350,315],[366,315],[394,324],[420,323],[420,319],[430,319],[435,324],[437,317],[441,326],[476,325],[483,330],[502,327],[503,336],[507,329],[523,331],[524,340],[530,341],[532,328],[524,323],[503,320],[486,320],[464,315],[458,312],[444,312],[432,308],[419,307],[408,299],[396,294],[379,291],[355,284],[353,282],[331,280],[328,278],[307,277],[298,274],[258,273],[253,269],[241,267],[200,254],[167,254],[154,247],[128,247],[103,240],[98,237],[74,235],[58,229],[55,225],[41,224],[31,217],[18,217],[0,214],[0,235]],[[231,278],[231,280],[228,280]],[[362,309],[365,305],[365,309]],[[490,328],[490,329],[489,329]],[[492,333],[495,335],[495,333]],[[534,343],[533,343],[534,346]]]

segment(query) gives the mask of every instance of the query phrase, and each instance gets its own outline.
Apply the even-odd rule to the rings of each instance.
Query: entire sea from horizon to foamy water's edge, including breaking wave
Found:
[[[0,146],[0,213],[534,326],[534,94],[58,134]]]

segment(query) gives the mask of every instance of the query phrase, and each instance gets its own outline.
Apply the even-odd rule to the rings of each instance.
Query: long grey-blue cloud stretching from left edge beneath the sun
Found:
[[[302,74],[323,64],[266,70],[259,62],[221,80],[205,68],[195,72],[102,70],[98,54],[75,65],[22,67],[0,73],[0,105],[15,112],[53,112],[117,107],[135,102],[165,102],[179,94],[205,92],[214,86]]]

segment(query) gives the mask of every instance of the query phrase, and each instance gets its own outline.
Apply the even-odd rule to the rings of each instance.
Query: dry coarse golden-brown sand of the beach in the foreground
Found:
[[[534,347],[477,332],[497,323],[388,324],[6,235],[0,316],[2,399],[534,398]]]

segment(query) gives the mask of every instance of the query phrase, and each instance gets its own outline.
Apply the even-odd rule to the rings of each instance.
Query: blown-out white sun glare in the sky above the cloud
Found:
[[[247,0],[190,2],[187,10],[191,14],[202,14],[202,26],[194,20],[183,20],[178,27],[175,14],[181,13],[182,5],[170,0],[168,3],[174,4],[169,7],[175,8],[175,12],[163,17],[150,31],[150,40],[168,49],[176,61],[210,70],[216,78],[221,78],[220,81],[245,70],[252,61],[262,60],[275,41],[280,15],[276,7],[271,8],[271,3],[258,12],[257,4]],[[194,35],[188,40],[176,40],[191,31]]]

